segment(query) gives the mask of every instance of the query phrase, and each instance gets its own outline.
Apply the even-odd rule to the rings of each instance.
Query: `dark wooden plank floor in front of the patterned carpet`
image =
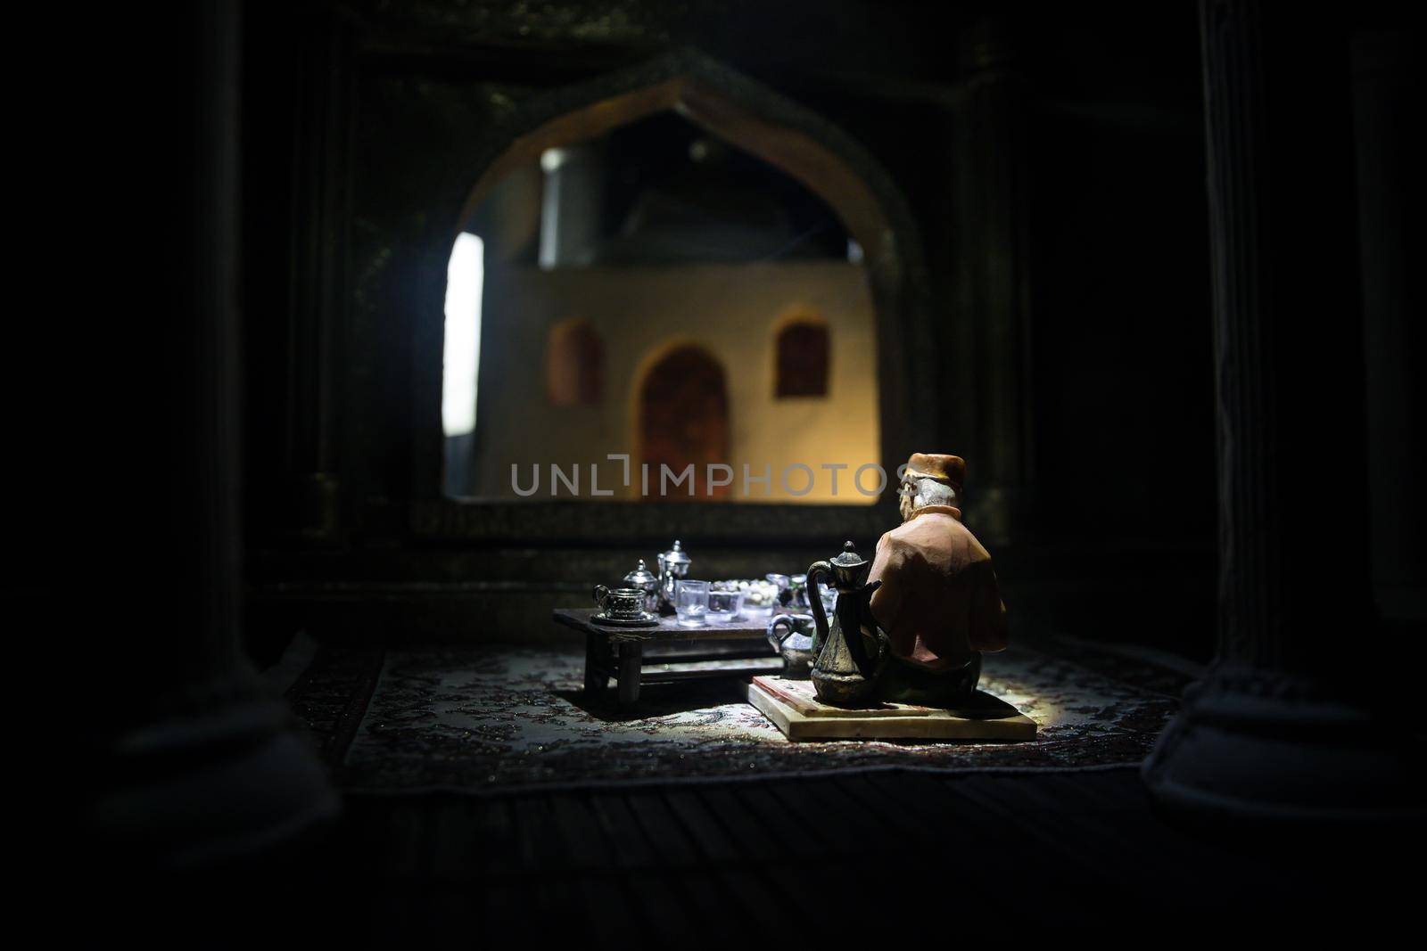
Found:
[[[341,848],[364,918],[420,918],[410,934],[432,938],[558,921],[595,945],[631,928],[805,932],[843,901],[818,883],[858,883],[848,901],[863,910],[952,903],[1095,927],[1112,910],[1297,907],[1330,881],[1311,850],[1167,826],[1133,770],[360,796]]]

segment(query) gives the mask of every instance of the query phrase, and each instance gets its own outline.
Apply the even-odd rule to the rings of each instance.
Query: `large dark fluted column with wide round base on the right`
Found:
[[[1380,709],[1390,696],[1370,693],[1390,694],[1384,680],[1363,670],[1378,624],[1347,36],[1257,0],[1203,0],[1200,11],[1219,649],[1143,774],[1163,803],[1199,813],[1407,810],[1418,798],[1393,743],[1403,721]],[[1184,505],[1207,508],[1210,495]]]

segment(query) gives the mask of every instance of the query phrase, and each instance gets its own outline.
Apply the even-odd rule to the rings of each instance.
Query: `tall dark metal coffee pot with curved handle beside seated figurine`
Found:
[[[872,616],[872,592],[882,582],[866,583],[872,562],[842,546],[842,555],[808,566],[808,587],[818,590],[819,576],[838,589],[832,624],[821,597],[811,597],[812,616],[818,624],[813,636],[812,684],[818,699],[841,707],[869,703],[878,689],[878,677],[890,654],[892,642]]]

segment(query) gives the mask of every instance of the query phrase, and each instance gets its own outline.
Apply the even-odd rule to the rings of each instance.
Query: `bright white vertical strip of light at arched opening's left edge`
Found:
[[[441,429],[448,436],[475,432],[475,379],[481,368],[481,288],[485,242],[462,234],[447,265],[445,372],[441,384]]]

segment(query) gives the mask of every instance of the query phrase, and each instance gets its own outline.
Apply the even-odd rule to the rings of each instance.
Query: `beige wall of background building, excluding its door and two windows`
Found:
[[[773,398],[779,328],[798,315],[826,322],[831,336],[829,394],[825,398]],[[605,351],[604,398],[596,406],[551,406],[544,368],[549,328],[588,319]],[[831,502],[831,473],[822,463],[845,463],[838,473],[839,503],[870,503],[852,488],[858,466],[879,461],[876,318],[860,267],[842,261],[779,264],[698,264],[648,268],[539,271],[494,268],[487,274],[477,418],[478,492],[517,498],[512,462],[529,485],[529,465],[541,466],[532,499],[549,499],[549,463],[568,472],[581,463],[579,495],[589,495],[589,463],[599,463],[601,488],[614,498],[638,496],[638,394],[644,374],[671,348],[696,344],[723,368],[728,386],[733,496],[742,496],[742,463],[753,475],[772,466],[772,486],[753,485],[751,502]],[[619,485],[618,463],[605,453],[628,452],[634,479]],[[785,492],[781,473],[802,462],[816,473],[805,496]],[[792,488],[806,476],[793,472]],[[651,473],[658,486],[658,473]],[[865,485],[875,488],[875,473]],[[685,489],[679,489],[681,492]],[[559,496],[569,493],[564,486]]]

